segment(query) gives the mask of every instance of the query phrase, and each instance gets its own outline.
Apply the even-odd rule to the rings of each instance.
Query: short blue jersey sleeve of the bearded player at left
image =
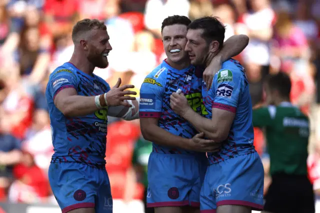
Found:
[[[75,73],[68,69],[59,69],[56,72],[52,73],[52,77],[50,78],[50,81],[48,82],[50,86],[50,94],[53,97],[53,100],[55,98],[55,95],[59,91],[61,91],[64,88],[75,88],[77,87],[77,77]]]

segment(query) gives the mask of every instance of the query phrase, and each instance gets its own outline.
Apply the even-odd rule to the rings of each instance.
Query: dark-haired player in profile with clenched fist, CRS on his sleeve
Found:
[[[224,48],[224,26],[203,17],[188,26],[185,51],[193,65],[207,66]],[[200,192],[200,211],[249,213],[263,206],[263,166],[253,146],[252,106],[245,71],[228,59],[207,91],[202,84],[205,113],[194,112],[185,92],[173,92],[170,106],[221,149],[208,152],[209,166]]]

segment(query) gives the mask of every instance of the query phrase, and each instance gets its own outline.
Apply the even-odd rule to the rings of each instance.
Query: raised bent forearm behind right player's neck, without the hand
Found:
[[[249,37],[240,34],[240,35],[232,35],[226,41],[223,42],[222,49],[216,55],[221,58],[221,61],[226,61],[230,57],[238,55],[249,42]]]

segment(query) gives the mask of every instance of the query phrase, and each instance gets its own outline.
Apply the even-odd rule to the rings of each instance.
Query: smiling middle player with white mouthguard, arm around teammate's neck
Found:
[[[194,212],[206,170],[206,151],[220,144],[203,139],[192,125],[170,108],[169,96],[180,89],[195,113],[205,114],[201,96],[201,67],[190,64],[187,52],[185,16],[173,15],[162,22],[162,42],[167,59],[149,73],[140,88],[140,126],[143,137],[152,141],[148,161],[147,206],[156,213]],[[247,36],[236,35],[225,41],[218,56],[222,60],[241,52]],[[219,57],[216,57],[219,58]],[[215,58],[215,59],[216,59]],[[211,62],[213,76],[215,64]],[[198,134],[197,134],[198,133]]]

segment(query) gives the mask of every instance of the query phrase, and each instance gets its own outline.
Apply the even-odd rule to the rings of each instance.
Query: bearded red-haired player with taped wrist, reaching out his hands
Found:
[[[103,22],[78,21],[72,40],[71,59],[50,74],[45,91],[54,147],[49,181],[63,213],[112,212],[104,160],[107,115],[138,118],[138,101],[129,96],[136,92],[124,90],[134,86],[120,86],[120,78],[110,88],[93,74],[94,67],[107,67],[112,49]]]

